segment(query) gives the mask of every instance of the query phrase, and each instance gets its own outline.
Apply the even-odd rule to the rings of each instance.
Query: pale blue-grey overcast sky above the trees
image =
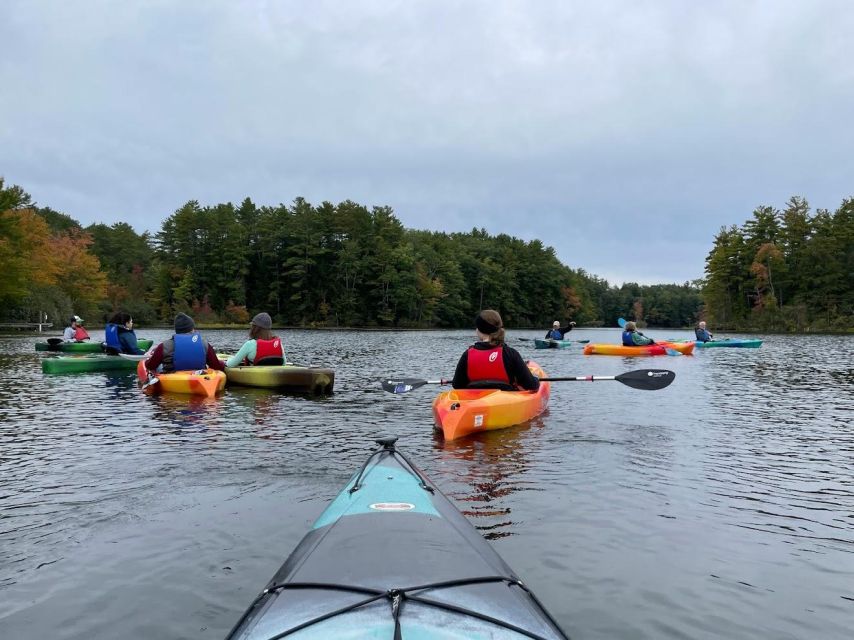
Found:
[[[0,175],[84,225],[390,205],[612,283],[854,195],[854,2],[0,2]]]

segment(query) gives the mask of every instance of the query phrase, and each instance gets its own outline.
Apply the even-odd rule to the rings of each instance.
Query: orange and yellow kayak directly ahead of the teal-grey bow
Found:
[[[528,368],[535,376],[546,373],[533,360]],[[549,383],[536,391],[499,391],[498,389],[452,389],[433,400],[436,428],[445,440],[456,440],[471,433],[504,429],[537,417],[549,404]]]

